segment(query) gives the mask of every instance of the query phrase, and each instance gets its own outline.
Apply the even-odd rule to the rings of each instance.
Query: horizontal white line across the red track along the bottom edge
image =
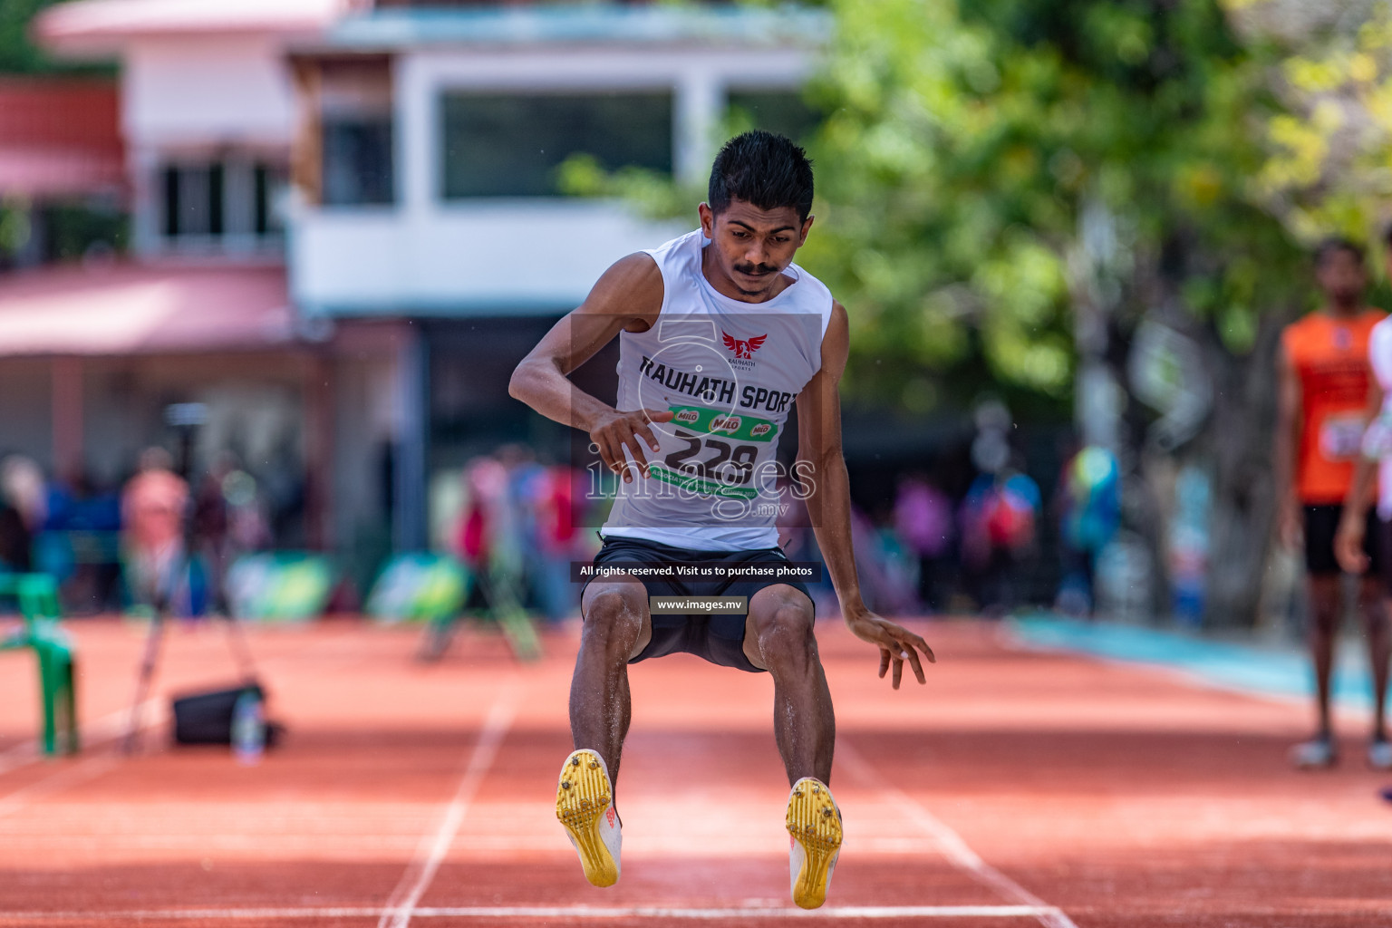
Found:
[[[1057,913],[1051,906],[832,906],[830,909],[664,909],[661,906],[626,906],[593,909],[590,906],[464,906],[416,909],[416,918],[679,918],[714,921],[720,918],[1040,918]],[[132,911],[0,911],[0,924],[7,921],[71,921],[100,918],[102,921],[139,920],[264,920],[264,918],[369,918],[390,914],[377,907],[324,909],[152,909]]]

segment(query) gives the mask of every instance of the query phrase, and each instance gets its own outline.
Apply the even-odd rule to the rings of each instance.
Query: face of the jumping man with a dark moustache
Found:
[[[715,289],[759,303],[782,289],[780,275],[792,264],[813,217],[798,217],[798,210],[784,206],[761,210],[745,200],[731,200],[720,213],[700,205],[700,227],[710,239],[707,277]]]

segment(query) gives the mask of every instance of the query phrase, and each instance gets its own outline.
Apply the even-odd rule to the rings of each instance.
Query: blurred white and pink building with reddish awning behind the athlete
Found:
[[[433,472],[508,440],[565,454],[508,399],[512,366],[611,262],[695,223],[567,195],[565,171],[702,184],[731,106],[807,118],[828,35],[738,4],[52,7],[45,47],[118,64],[129,256],[0,277],[0,434],[114,472],[200,402],[205,459],[241,442],[302,474],[305,543],[423,547]]]

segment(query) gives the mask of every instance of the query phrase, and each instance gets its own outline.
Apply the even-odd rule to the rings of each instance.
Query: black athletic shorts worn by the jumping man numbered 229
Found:
[[[759,548],[756,551],[688,551],[656,541],[639,538],[606,538],[604,547],[594,555],[594,563],[631,561],[638,563],[696,563],[721,562],[729,565],[780,563],[788,558],[780,548]],[[807,601],[812,594],[798,580],[773,580],[764,577],[735,577],[729,580],[682,580],[677,577],[640,577],[647,587],[647,595],[743,595],[753,598],[767,586],[785,583],[802,590]],[[593,580],[592,580],[593,583]],[[647,643],[629,664],[646,661],[650,657],[665,657],[683,651],[704,658],[721,666],[760,673],[760,668],[745,657],[745,615],[682,615],[654,614],[653,640]]]

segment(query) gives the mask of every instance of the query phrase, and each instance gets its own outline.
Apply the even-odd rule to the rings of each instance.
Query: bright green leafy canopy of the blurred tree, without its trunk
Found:
[[[1178,302],[1246,352],[1304,262],[1265,211],[1265,63],[1212,0],[834,0],[812,89],[818,269],[856,316],[853,380],[892,397],[979,346],[1052,397],[1073,310]],[[1089,241],[1084,216],[1112,242]]]

